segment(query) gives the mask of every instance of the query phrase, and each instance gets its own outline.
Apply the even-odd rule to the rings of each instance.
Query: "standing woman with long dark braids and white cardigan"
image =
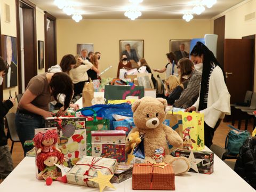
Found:
[[[203,63],[203,73],[199,97],[186,111],[204,114],[204,142],[210,147],[221,119],[230,115],[230,94],[220,63],[203,43],[197,42],[190,55],[194,63]]]

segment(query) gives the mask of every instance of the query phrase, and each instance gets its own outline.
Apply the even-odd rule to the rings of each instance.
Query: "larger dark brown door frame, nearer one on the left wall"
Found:
[[[19,93],[22,93],[22,84],[21,84],[21,50],[20,50],[20,3],[27,5],[29,8],[33,10],[33,33],[34,33],[34,63],[37,66],[37,43],[36,43],[36,5],[31,3],[28,0],[16,0],[16,27],[17,27],[17,55],[18,55],[18,87]],[[26,69],[25,69],[26,70]],[[37,75],[37,67],[34,68],[34,74]]]

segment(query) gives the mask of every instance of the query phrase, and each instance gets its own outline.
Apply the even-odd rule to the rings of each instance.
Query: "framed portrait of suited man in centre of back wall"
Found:
[[[128,60],[138,62],[144,57],[144,40],[120,40],[120,59],[125,54]]]

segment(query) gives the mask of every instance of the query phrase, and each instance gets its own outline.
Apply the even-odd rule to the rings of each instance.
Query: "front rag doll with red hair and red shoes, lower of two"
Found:
[[[65,182],[65,177],[61,177],[61,173],[57,171],[55,164],[63,164],[64,155],[59,151],[53,151],[51,153],[41,153],[36,157],[36,165],[41,171],[38,177],[43,177],[46,181],[46,185],[51,185],[53,180]]]

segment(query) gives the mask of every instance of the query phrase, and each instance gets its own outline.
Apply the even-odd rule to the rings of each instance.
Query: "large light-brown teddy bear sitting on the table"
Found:
[[[156,149],[163,147],[166,154],[163,162],[174,165],[174,173],[178,175],[187,172],[190,169],[190,164],[186,157],[173,157],[169,155],[167,141],[170,145],[180,149],[183,148],[183,141],[177,132],[163,124],[166,118],[166,107],[167,101],[162,98],[144,97],[135,101],[132,105],[132,111],[136,127],[131,130],[127,138],[136,131],[140,134],[145,134],[144,149],[146,162],[155,163],[151,157],[153,157]],[[129,146],[127,139],[126,146]]]

